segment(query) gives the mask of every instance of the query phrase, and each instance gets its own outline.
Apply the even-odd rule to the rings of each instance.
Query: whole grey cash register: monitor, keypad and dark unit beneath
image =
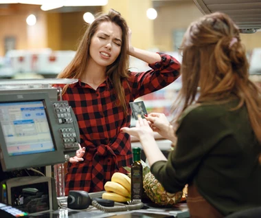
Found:
[[[57,100],[56,88],[0,90],[3,171],[65,163],[78,142],[76,116],[67,101]],[[56,210],[54,177],[5,179],[0,183],[0,202],[30,214]]]

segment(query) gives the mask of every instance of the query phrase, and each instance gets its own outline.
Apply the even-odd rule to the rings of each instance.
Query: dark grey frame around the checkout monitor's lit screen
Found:
[[[9,155],[7,151],[7,144],[5,143],[5,138],[3,135],[3,129],[0,124],[0,160],[3,171],[13,171],[16,169],[36,166],[48,166],[65,162],[63,145],[56,143],[59,142],[57,137],[60,137],[60,135],[54,132],[54,129],[52,128],[54,125],[57,125],[57,119],[54,113],[54,107],[52,102],[49,100],[49,95],[47,92],[30,93],[30,91],[28,91],[28,93],[19,93],[18,91],[17,93],[12,94],[0,94],[0,102],[8,103],[29,101],[43,101],[55,151],[23,155]]]

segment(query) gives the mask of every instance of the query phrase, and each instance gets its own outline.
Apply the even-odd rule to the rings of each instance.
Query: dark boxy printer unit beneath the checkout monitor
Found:
[[[30,214],[58,209],[53,177],[16,177],[4,180],[0,186],[0,202],[3,204]]]

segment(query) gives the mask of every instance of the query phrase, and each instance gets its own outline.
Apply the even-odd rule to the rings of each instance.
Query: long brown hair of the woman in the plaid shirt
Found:
[[[125,93],[122,88],[121,80],[122,78],[128,77],[128,65],[129,56],[128,52],[128,25],[126,21],[122,18],[119,12],[115,10],[110,10],[108,14],[97,14],[95,20],[87,28],[80,44],[76,55],[67,67],[58,74],[57,78],[80,78],[82,74],[85,73],[87,63],[90,58],[90,45],[91,39],[98,29],[100,23],[112,22],[118,25],[122,30],[122,47],[119,56],[115,62],[108,67],[106,67],[106,76],[113,84],[115,88],[115,94],[119,99],[119,106],[124,108],[125,113],[127,113]],[[68,85],[63,88],[63,94],[65,94]]]

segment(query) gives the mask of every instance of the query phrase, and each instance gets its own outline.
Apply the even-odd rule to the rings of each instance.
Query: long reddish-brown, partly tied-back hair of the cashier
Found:
[[[251,127],[261,142],[261,91],[249,80],[245,47],[235,23],[220,12],[205,15],[185,32],[181,52],[182,88],[174,107],[175,111],[182,105],[178,117],[195,102],[223,102],[236,96],[236,109],[247,106]]]

